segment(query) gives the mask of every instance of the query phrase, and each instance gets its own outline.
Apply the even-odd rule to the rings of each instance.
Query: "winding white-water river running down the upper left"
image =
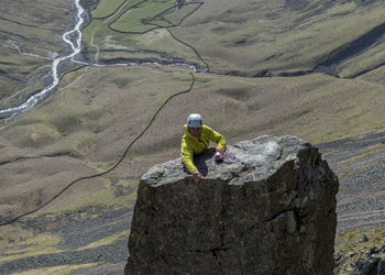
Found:
[[[73,62],[76,62],[76,61],[74,61],[74,57],[78,53],[80,53],[80,50],[81,50],[80,26],[84,23],[84,19],[81,18],[81,15],[85,13],[85,9],[82,9],[82,7],[79,4],[79,0],[75,0],[75,4],[76,4],[76,9],[77,9],[77,16],[76,16],[77,23],[73,30],[64,33],[62,36],[63,40],[72,46],[72,48],[73,48],[72,54],[66,55],[66,56],[62,56],[62,57],[57,57],[54,59],[54,62],[52,64],[52,69],[51,69],[51,76],[52,76],[53,80],[48,87],[44,88],[38,94],[30,97],[24,103],[22,103],[19,107],[0,110],[0,118],[13,117],[13,116],[20,114],[20,113],[25,112],[26,110],[35,107],[37,103],[40,103],[43,99],[45,99],[48,96],[50,91],[52,91],[59,84],[59,76],[57,73],[58,65],[63,61],[66,61],[68,58],[72,58]],[[70,40],[70,35],[73,33],[76,33],[76,41],[75,42],[73,42]],[[76,62],[76,63],[80,63],[80,62]]]

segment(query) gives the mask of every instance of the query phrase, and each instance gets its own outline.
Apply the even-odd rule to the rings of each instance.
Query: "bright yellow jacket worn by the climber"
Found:
[[[194,138],[188,131],[187,124],[184,125],[185,135],[182,138],[182,148],[180,156],[182,161],[185,164],[189,173],[194,173],[197,167],[193,163],[194,155],[201,154],[205,148],[210,146],[210,141],[217,143],[217,148],[224,151],[226,150],[226,139],[220,133],[217,133],[211,128],[204,125],[202,133],[199,138]]]

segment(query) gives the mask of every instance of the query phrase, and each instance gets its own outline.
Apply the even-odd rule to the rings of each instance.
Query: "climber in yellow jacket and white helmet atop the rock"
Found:
[[[195,183],[198,183],[204,176],[199,173],[193,163],[194,155],[201,154],[209,148],[210,141],[217,143],[216,162],[223,160],[223,151],[226,150],[226,139],[211,128],[202,124],[202,117],[198,113],[188,116],[187,124],[184,125],[185,134],[182,138],[180,156],[189,173],[193,174]]]

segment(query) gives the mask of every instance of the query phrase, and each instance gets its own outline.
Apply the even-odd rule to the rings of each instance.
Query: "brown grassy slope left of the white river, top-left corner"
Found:
[[[72,4],[72,0],[2,1],[0,78],[6,84],[1,85],[0,106],[3,99],[29,87],[34,75],[46,74],[45,66],[52,63],[50,58],[55,53],[64,53],[66,43],[62,34]]]

